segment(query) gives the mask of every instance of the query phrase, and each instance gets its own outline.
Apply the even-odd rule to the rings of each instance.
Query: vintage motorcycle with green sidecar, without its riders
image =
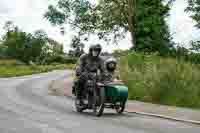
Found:
[[[128,99],[128,87],[120,80],[101,82],[98,73],[91,72],[84,86],[84,102],[78,103],[75,87],[75,108],[77,112],[86,109],[93,110],[95,116],[101,116],[104,108],[115,109],[117,113],[124,112]]]

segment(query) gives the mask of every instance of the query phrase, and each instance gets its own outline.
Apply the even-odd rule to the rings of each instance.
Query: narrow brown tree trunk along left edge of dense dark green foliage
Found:
[[[136,49],[136,0],[128,0],[128,25],[133,49]]]

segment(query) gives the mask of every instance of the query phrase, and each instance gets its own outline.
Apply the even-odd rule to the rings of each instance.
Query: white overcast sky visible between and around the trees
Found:
[[[38,29],[44,29],[49,37],[59,42],[64,42],[65,50],[69,48],[70,38],[73,32],[66,28],[65,36],[60,34],[59,27],[52,27],[48,21],[43,18],[48,4],[55,0],[0,0],[0,35],[2,35],[3,25],[11,20],[26,32],[33,32]],[[170,14],[169,26],[174,41],[183,43],[187,47],[187,42],[199,37],[199,32],[194,28],[194,22],[184,13],[187,6],[186,0],[176,0]],[[97,39],[94,39],[97,42]],[[92,41],[94,42],[94,41]],[[90,42],[91,43],[91,42]],[[113,49],[127,49],[130,47],[130,36],[120,42],[120,45],[106,46],[104,51]]]

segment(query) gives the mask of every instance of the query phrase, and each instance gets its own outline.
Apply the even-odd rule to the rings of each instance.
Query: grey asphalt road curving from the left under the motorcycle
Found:
[[[49,83],[69,71],[0,79],[0,133],[199,133],[200,126],[112,110],[96,118],[73,101],[48,96]]]

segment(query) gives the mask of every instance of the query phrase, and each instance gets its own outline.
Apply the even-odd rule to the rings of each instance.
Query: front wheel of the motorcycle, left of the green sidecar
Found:
[[[94,91],[93,97],[93,113],[94,115],[100,117],[104,111],[104,101],[105,101],[105,90],[104,88],[100,88],[99,96],[96,95],[96,91]]]

